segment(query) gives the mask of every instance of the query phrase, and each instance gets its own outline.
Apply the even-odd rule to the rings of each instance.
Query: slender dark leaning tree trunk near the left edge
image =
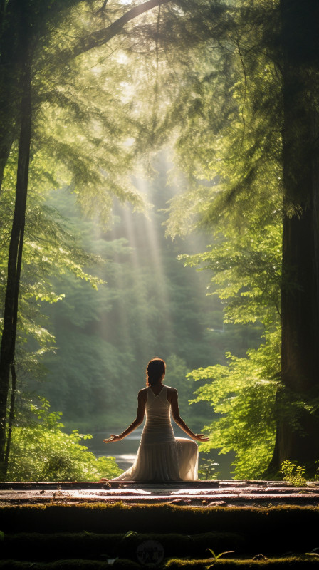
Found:
[[[16,321],[18,314],[19,284],[21,273],[23,234],[28,190],[28,165],[31,145],[31,73],[30,62],[21,76],[21,130],[16,176],[16,203],[9,245],[8,275],[4,303],[4,328],[0,353],[0,475],[4,477],[6,452],[6,407],[9,393],[10,368],[14,365]]]

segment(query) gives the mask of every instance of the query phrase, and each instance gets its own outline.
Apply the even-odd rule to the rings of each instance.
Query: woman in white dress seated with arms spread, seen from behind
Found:
[[[137,395],[137,415],[121,435],[111,435],[105,443],[122,440],[143,421],[140,447],[130,469],[112,481],[194,481],[197,480],[197,444],[184,437],[174,437],[170,413],[189,437],[199,442],[209,438],[193,433],[179,415],[177,390],[164,386],[166,364],[162,358],[152,358],[147,364],[147,388]],[[105,481],[105,480],[102,480]]]

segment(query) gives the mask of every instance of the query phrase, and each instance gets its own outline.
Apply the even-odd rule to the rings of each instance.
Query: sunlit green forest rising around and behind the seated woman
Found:
[[[117,475],[83,433],[130,423],[154,356],[203,462],[318,477],[318,28],[316,0],[0,1],[1,480]]]

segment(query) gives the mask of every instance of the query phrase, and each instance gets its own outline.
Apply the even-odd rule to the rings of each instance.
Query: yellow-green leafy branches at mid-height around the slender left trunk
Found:
[[[14,204],[14,170],[16,150],[13,149],[4,172],[0,204],[4,215],[0,230],[0,301],[3,304],[6,288],[6,256],[9,247],[12,204]],[[47,169],[47,172],[45,172]],[[58,210],[48,204],[48,181],[45,174],[51,172],[51,162],[44,163],[43,157],[33,157],[30,167],[31,188],[26,211],[26,233],[23,244],[21,271],[18,335],[16,363],[21,378],[43,378],[41,363],[43,356],[56,349],[55,338],[49,330],[48,318],[44,314],[45,304],[56,305],[65,294],[54,279],[54,275],[71,274],[88,282],[96,289],[102,280],[85,271],[85,265],[98,261],[94,254],[85,252],[80,246],[78,230]],[[52,182],[53,183],[53,182]]]

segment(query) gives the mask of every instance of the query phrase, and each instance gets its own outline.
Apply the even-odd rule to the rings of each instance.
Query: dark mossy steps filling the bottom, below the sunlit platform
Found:
[[[319,566],[319,556],[305,555],[319,546],[318,528],[319,507],[9,506],[0,508],[0,569],[103,569],[108,559],[115,569],[140,568],[137,547],[147,540],[160,542],[158,567],[167,570],[206,569],[208,548],[234,551],[214,564],[225,569],[302,569]]]

